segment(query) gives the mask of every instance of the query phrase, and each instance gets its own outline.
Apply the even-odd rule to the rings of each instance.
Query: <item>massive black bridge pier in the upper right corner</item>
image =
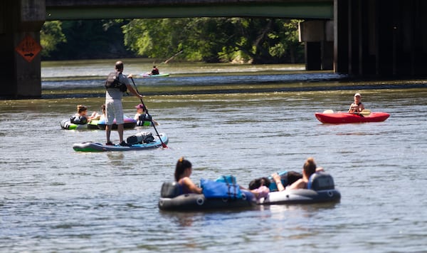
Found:
[[[425,76],[427,1],[334,0],[334,71]]]

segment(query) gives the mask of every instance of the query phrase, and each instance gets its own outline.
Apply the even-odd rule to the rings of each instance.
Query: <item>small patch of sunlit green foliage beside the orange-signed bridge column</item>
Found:
[[[40,31],[40,43],[43,50],[42,57],[51,56],[51,52],[56,51],[58,43],[66,42],[60,21],[46,21]]]

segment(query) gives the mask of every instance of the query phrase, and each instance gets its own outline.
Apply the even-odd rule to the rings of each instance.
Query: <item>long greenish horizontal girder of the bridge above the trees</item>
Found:
[[[71,4],[70,4],[71,2]],[[332,19],[332,1],[123,1],[119,6],[100,2],[75,6],[73,1],[46,0],[46,20],[64,19],[151,19],[181,17],[277,17],[283,19]],[[175,1],[176,2],[176,1]],[[203,2],[203,1],[199,1]],[[209,3],[210,2],[210,3]],[[184,4],[182,4],[184,3]]]

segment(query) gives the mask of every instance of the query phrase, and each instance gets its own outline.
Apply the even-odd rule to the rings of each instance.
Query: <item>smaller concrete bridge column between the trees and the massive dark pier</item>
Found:
[[[305,21],[300,23],[300,41],[305,42],[305,70],[332,70],[332,21]]]

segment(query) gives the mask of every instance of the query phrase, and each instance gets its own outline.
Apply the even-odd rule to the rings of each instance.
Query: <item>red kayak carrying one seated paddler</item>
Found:
[[[381,122],[389,118],[389,113],[315,113],[317,120],[322,123],[344,124],[344,123],[367,123]]]

